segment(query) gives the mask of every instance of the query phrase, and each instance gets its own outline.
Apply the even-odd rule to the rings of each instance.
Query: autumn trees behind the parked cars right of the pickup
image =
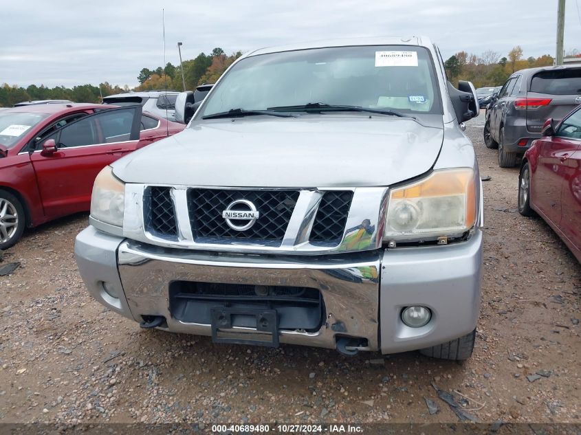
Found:
[[[565,54],[565,57],[581,57],[576,49]],[[509,76],[519,69],[547,67],[553,65],[554,58],[543,54],[538,58],[524,58],[520,45],[514,47],[507,56],[488,50],[480,56],[457,52],[444,63],[448,79],[456,85],[458,80],[468,80],[474,87],[501,86]]]

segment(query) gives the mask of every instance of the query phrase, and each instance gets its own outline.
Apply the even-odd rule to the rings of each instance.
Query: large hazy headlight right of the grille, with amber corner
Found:
[[[391,190],[384,239],[457,237],[470,230],[475,221],[474,171],[436,170],[426,179]]]

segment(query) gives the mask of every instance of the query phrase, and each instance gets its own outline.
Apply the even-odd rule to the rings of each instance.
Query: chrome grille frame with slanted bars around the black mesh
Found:
[[[144,225],[144,193],[149,186],[142,183],[127,183],[125,185],[125,212],[123,221],[123,236],[134,241],[141,241],[160,247],[180,249],[196,249],[213,252],[240,252],[256,254],[296,254],[320,255],[342,254],[345,252],[369,251],[381,247],[384,230],[384,216],[388,199],[388,188],[230,188],[222,186],[163,186],[171,188],[177,236],[160,235],[151,232]],[[195,238],[190,224],[188,212],[188,190],[296,190],[299,192],[296,205],[285,230],[282,241],[243,240],[240,238],[213,238],[212,241]],[[325,192],[351,191],[351,207],[342,231],[340,241],[336,245],[328,243],[311,243],[311,230],[314,225],[322,197]],[[364,232],[358,232],[363,229]],[[363,233],[365,238],[361,239]]]

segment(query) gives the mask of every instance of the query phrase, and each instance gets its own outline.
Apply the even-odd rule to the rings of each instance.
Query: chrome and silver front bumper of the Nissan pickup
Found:
[[[325,319],[316,332],[281,331],[280,341],[336,348],[338,337],[366,341],[360,350],[395,353],[448,342],[476,326],[482,234],[448,246],[380,249],[318,257],[222,254],[166,249],[88,227],[75,255],[89,293],[138,322],[161,315],[172,332],[211,335],[208,324],[180,322],[169,309],[171,282],[216,282],[316,288]],[[116,297],[113,297],[116,296]],[[424,305],[432,319],[406,326],[405,306]]]

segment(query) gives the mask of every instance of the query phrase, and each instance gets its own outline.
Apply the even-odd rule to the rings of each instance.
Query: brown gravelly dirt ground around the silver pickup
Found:
[[[543,221],[516,212],[518,169],[498,168],[481,124],[483,116],[466,131],[481,175],[492,177],[470,361],[225,346],[141,330],[85,292],[73,257],[81,215],[26,232],[0,263],[21,263],[0,276],[0,420],[459,421],[435,383],[460,392],[455,400],[478,421],[581,423],[581,267]],[[429,414],[424,398],[439,411]]]

